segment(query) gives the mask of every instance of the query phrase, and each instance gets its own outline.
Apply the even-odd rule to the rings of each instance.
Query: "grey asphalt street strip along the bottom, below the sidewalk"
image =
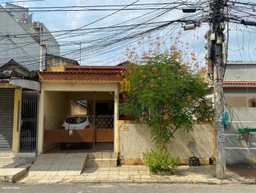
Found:
[[[26,192],[26,193],[102,193],[102,192],[189,192],[189,193],[200,193],[200,192],[256,192],[256,185],[185,185],[185,184],[136,184],[136,183],[118,183],[118,184],[40,184],[40,185],[24,185],[17,183],[0,183],[0,192]]]

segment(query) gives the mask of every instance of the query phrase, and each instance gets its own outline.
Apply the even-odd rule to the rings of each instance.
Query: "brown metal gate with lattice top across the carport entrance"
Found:
[[[95,101],[93,111],[87,115],[90,128],[71,129],[61,127],[64,121],[68,124],[68,118],[45,117],[44,118],[44,144],[56,144],[61,150],[86,150],[86,151],[113,151],[114,150],[114,116],[113,114],[95,113]],[[79,115],[75,116],[79,119]],[[76,122],[76,121],[71,121]],[[77,121],[78,123],[79,121]],[[75,123],[76,124],[76,123]],[[47,150],[46,150],[47,151]]]

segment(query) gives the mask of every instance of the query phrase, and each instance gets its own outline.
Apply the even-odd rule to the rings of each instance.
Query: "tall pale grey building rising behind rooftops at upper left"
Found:
[[[60,55],[58,42],[44,24],[33,22],[28,8],[7,3],[6,10],[0,6],[0,17],[0,66],[14,59],[28,70],[38,71],[41,49],[43,61],[47,61],[46,53]]]

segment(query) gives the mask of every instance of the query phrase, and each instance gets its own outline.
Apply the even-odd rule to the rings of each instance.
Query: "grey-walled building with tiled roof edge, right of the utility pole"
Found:
[[[256,61],[229,61],[223,80],[230,124],[225,129],[227,164],[256,162]]]

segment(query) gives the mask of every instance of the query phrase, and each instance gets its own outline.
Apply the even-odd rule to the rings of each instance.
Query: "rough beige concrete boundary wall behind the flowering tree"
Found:
[[[119,152],[123,164],[144,164],[143,153],[154,149],[150,128],[134,121],[118,121],[120,132]],[[212,123],[195,124],[193,132],[177,130],[169,146],[173,156],[180,157],[180,164],[188,164],[190,157],[199,157],[201,164],[209,164],[214,155]]]

